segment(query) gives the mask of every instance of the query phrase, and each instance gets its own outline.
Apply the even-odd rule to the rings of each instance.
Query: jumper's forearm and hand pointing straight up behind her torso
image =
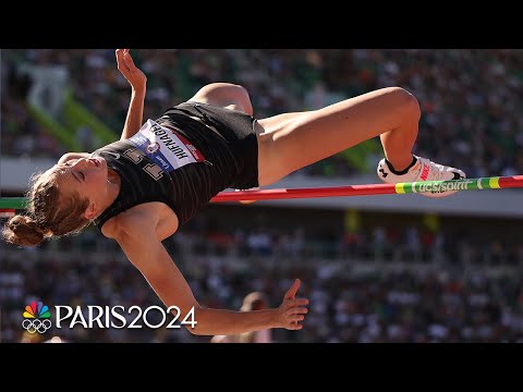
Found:
[[[131,102],[123,125],[121,140],[132,137],[143,125],[144,101],[147,87],[147,76],[134,65],[129,49],[117,49],[118,70],[131,85]]]

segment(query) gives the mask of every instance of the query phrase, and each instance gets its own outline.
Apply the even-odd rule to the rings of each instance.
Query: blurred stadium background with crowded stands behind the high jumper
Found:
[[[133,50],[148,77],[144,118],[210,82],[244,85],[258,118],[397,85],[422,107],[416,152],[470,177],[523,173],[523,51],[515,49]],[[121,132],[130,86],[113,49],[1,51],[1,196],[34,171]],[[350,130],[348,130],[350,132]],[[377,139],[275,187],[377,183]],[[522,342],[521,189],[209,205],[165,245],[202,305],[278,306],[292,279],[311,313],[275,342]],[[34,249],[0,243],[0,342],[208,342],[184,330],[82,328],[28,335],[31,301],[160,305],[113,243],[90,228]]]

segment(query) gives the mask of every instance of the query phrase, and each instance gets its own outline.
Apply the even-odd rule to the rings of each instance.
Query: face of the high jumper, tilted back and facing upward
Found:
[[[71,159],[49,171],[58,171],[60,186],[88,198],[89,204],[94,204],[90,208],[102,205],[107,189],[107,162],[104,158]]]

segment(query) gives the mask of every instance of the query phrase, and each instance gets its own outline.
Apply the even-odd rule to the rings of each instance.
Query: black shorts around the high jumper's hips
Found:
[[[258,186],[258,142],[255,133],[256,119],[252,115],[239,110],[188,101],[168,109],[157,121],[167,125],[171,123],[181,131],[209,125],[205,126],[204,132],[184,132],[184,136],[212,164],[218,162],[224,166],[224,172],[234,172],[230,187],[248,189]]]

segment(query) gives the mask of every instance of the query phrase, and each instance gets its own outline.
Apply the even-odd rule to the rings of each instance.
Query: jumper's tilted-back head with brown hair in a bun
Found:
[[[9,243],[35,246],[46,237],[80,233],[101,212],[106,185],[102,158],[73,159],[35,174],[27,215],[11,218],[2,235]]]

